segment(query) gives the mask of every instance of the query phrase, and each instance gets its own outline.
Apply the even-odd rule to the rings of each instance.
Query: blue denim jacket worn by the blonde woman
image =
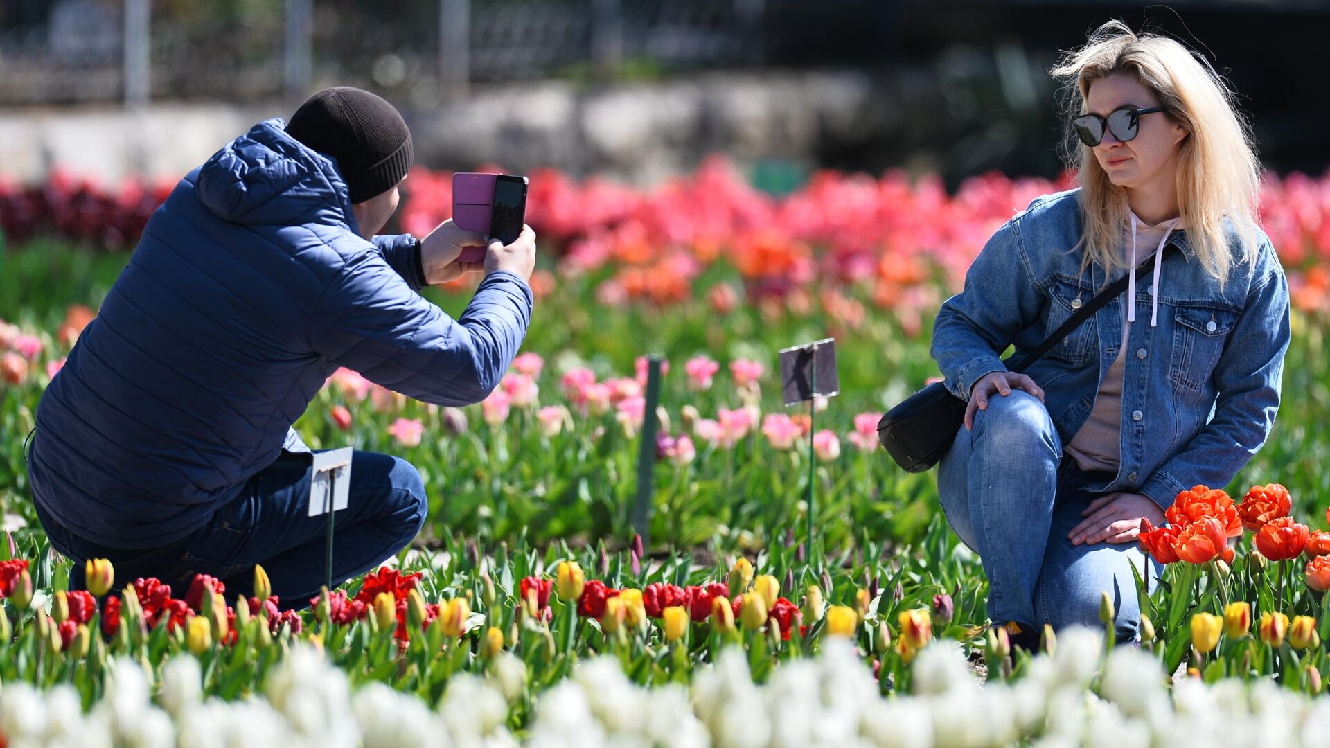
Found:
[[[931,354],[946,387],[970,398],[975,382],[1004,371],[1008,345],[1023,357],[1105,283],[1104,269],[1080,274],[1077,190],[1044,196],[1003,225],[966,274],[964,290],[943,302]],[[1230,234],[1232,236],[1232,234]],[[1129,491],[1161,507],[1194,484],[1226,486],[1261,449],[1279,407],[1289,347],[1289,286],[1261,233],[1254,264],[1236,261],[1224,290],[1205,272],[1185,230],[1162,261],[1157,326],[1154,286],[1137,278],[1123,375],[1121,467],[1083,490]],[[1230,248],[1238,257],[1238,245]],[[1108,282],[1127,270],[1115,270]],[[1061,442],[1089,417],[1123,343],[1127,293],[1059,342],[1025,374],[1044,389]],[[1140,310],[1145,313],[1140,313]]]

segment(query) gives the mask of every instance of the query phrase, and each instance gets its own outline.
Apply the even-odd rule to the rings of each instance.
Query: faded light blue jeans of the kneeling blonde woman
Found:
[[[938,465],[938,494],[952,530],[983,560],[988,618],[1061,628],[1099,626],[1103,591],[1113,600],[1119,642],[1136,638],[1141,622],[1137,574],[1145,555],[1137,543],[1072,546],[1067,534],[1099,494],[1084,486],[1111,480],[1083,472],[1063,455],[1061,439],[1039,398],[1021,390],[994,394],[963,426]],[[1157,578],[1160,567],[1150,571]]]

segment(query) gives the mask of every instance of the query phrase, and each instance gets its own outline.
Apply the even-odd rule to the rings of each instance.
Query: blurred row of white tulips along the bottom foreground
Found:
[[[133,660],[116,660],[105,695],[86,712],[68,685],[43,693],[4,684],[0,737],[9,748],[1330,747],[1330,699],[1269,680],[1212,687],[1188,679],[1169,688],[1158,661],[1140,650],[1119,647],[1104,660],[1091,630],[1064,631],[1056,654],[1033,659],[1011,684],[980,685],[954,643],[934,643],[912,664],[912,693],[886,699],[839,640],[825,642],[817,657],[782,664],[765,684],[732,650],[700,669],[692,689],[642,688],[617,660],[597,657],[539,696],[521,739],[508,715],[525,669],[507,654],[488,677],[455,676],[432,709],[382,684],[352,693],[346,675],[307,646],[293,648],[261,696],[239,701],[205,700],[188,655],[166,663],[156,699],[148,675]]]

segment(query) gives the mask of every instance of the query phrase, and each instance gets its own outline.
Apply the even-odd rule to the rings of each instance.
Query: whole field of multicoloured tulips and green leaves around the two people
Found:
[[[1162,574],[1137,579],[1140,642],[1013,650],[934,474],[876,443],[938,375],[932,317],[983,242],[1065,184],[823,172],[773,197],[721,160],[648,189],[532,173],[536,307],[500,386],[447,409],[343,369],[297,422],[314,449],[410,461],[430,516],[291,611],[279,568],[173,590],[90,559],[68,590],[24,437],[169,185],[0,180],[0,745],[1330,744],[1330,176],[1267,178],[1283,403],[1232,484],[1142,535]],[[415,169],[400,230],[447,218],[450,186]],[[473,283],[426,293],[460,313]],[[841,394],[783,407],[777,351],[825,337]]]

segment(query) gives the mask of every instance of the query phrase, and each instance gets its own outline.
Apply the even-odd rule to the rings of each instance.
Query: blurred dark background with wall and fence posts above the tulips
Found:
[[[1047,69],[1113,17],[1226,75],[1271,170],[1330,162],[1322,0],[0,0],[0,180],[178,178],[335,84],[396,104],[431,169],[1055,177]]]

